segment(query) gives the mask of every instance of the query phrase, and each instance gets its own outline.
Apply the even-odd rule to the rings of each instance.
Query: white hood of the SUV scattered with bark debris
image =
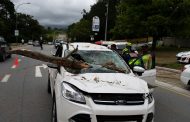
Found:
[[[87,93],[148,93],[144,80],[123,73],[66,75],[64,81]]]

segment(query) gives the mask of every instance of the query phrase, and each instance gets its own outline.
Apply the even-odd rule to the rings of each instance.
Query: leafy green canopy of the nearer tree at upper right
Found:
[[[121,0],[114,37],[189,37],[189,0]]]

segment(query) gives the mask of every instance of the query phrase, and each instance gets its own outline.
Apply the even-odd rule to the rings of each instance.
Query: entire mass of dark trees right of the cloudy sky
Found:
[[[108,0],[102,0],[91,6],[90,12],[83,10],[82,19],[68,28],[69,37],[82,33],[78,28],[83,20],[88,21],[89,38],[93,16],[100,18],[100,31],[96,40],[103,40],[105,33],[105,13]],[[190,37],[190,1],[189,0],[109,0],[108,39],[126,39],[152,36]],[[77,32],[78,30],[78,32]],[[90,32],[90,33],[89,33]],[[72,35],[71,35],[72,33]]]

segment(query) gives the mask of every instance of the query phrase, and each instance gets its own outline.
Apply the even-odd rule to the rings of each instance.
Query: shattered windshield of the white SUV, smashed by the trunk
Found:
[[[126,63],[113,51],[78,50],[72,54],[71,60],[86,62],[90,68],[81,70],[66,68],[70,73],[130,73]]]

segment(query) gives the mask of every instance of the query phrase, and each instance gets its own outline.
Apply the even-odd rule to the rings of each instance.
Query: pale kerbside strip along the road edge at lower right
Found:
[[[161,81],[158,81],[158,80],[156,80],[156,84],[160,88],[163,88],[163,89],[169,90],[171,92],[174,92],[174,93],[176,93],[178,95],[190,98],[190,91],[188,91],[188,90],[185,90],[185,89],[182,89],[180,87],[177,87],[177,86],[174,86],[174,85],[171,85],[171,84],[168,84],[168,83],[164,83],[164,82],[161,82]]]

